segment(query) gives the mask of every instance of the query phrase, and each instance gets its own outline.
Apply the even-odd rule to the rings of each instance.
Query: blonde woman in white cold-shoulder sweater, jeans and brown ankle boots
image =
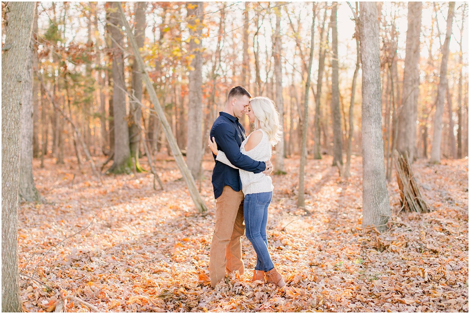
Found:
[[[274,106],[274,101],[267,97],[252,98],[247,115],[250,122],[254,123],[255,131],[242,142],[240,151],[254,160],[269,160],[271,158],[271,146],[276,145],[281,140],[282,135],[279,113]],[[236,168],[228,161],[223,151],[217,150],[214,138],[212,138],[212,141],[209,139],[209,146],[214,155],[217,155],[216,159]],[[240,169],[240,179],[242,180],[243,194],[245,194],[243,215],[246,237],[250,240],[257,255],[252,281],[260,280],[283,287],[285,282],[274,268],[267,250],[267,209],[274,189],[271,177],[263,173],[253,173]]]

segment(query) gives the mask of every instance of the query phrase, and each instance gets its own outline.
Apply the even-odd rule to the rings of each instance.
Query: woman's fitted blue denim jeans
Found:
[[[243,202],[246,237],[257,255],[256,270],[268,271],[274,268],[267,251],[266,237],[267,208],[272,198],[273,192],[253,193],[246,194]]]

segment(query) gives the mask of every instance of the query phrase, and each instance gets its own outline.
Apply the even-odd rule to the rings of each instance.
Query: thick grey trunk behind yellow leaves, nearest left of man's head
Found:
[[[186,152],[186,162],[193,178],[199,179],[202,163],[202,116],[203,116],[203,57],[202,57],[202,29],[204,18],[204,2],[188,3],[188,27],[191,35],[189,41],[189,53],[194,54],[191,67],[194,70],[189,72],[189,104],[188,104],[188,150]]]

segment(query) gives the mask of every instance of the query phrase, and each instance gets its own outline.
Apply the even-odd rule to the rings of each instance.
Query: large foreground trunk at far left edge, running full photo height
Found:
[[[22,312],[17,253],[20,171],[18,130],[21,127],[25,63],[30,52],[35,3],[8,2],[7,7],[8,30],[1,56],[1,309],[4,313]]]

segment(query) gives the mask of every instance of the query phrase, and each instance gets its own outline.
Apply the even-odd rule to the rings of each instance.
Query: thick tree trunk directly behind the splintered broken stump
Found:
[[[419,96],[419,45],[421,33],[421,2],[408,2],[408,30],[403,71],[403,98],[398,110],[397,150],[414,159],[416,145],[416,118]]]

